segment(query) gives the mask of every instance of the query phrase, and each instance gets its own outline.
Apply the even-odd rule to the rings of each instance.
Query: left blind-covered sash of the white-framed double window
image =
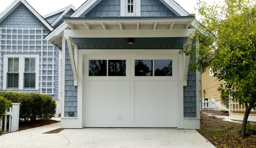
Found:
[[[7,88],[19,88],[19,58],[8,58]]]

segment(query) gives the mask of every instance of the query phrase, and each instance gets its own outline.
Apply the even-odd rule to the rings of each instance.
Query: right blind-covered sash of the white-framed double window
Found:
[[[25,58],[24,62],[24,88],[36,87],[36,58]]]

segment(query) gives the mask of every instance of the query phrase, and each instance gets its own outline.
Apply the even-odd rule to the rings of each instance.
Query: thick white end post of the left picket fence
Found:
[[[12,103],[12,128],[11,132],[19,130],[19,105],[20,103]]]

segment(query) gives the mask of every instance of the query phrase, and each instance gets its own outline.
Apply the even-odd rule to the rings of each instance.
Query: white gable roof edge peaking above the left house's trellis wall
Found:
[[[0,22],[2,22],[14,9],[16,9],[20,4],[24,4],[50,31],[54,30],[51,24],[42,17],[33,7],[31,7],[25,0],[15,0],[7,9],[5,9],[0,14]]]

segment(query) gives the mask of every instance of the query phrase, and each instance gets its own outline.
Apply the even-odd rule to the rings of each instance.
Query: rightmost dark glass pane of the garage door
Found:
[[[172,76],[172,60],[154,60],[155,76]]]

